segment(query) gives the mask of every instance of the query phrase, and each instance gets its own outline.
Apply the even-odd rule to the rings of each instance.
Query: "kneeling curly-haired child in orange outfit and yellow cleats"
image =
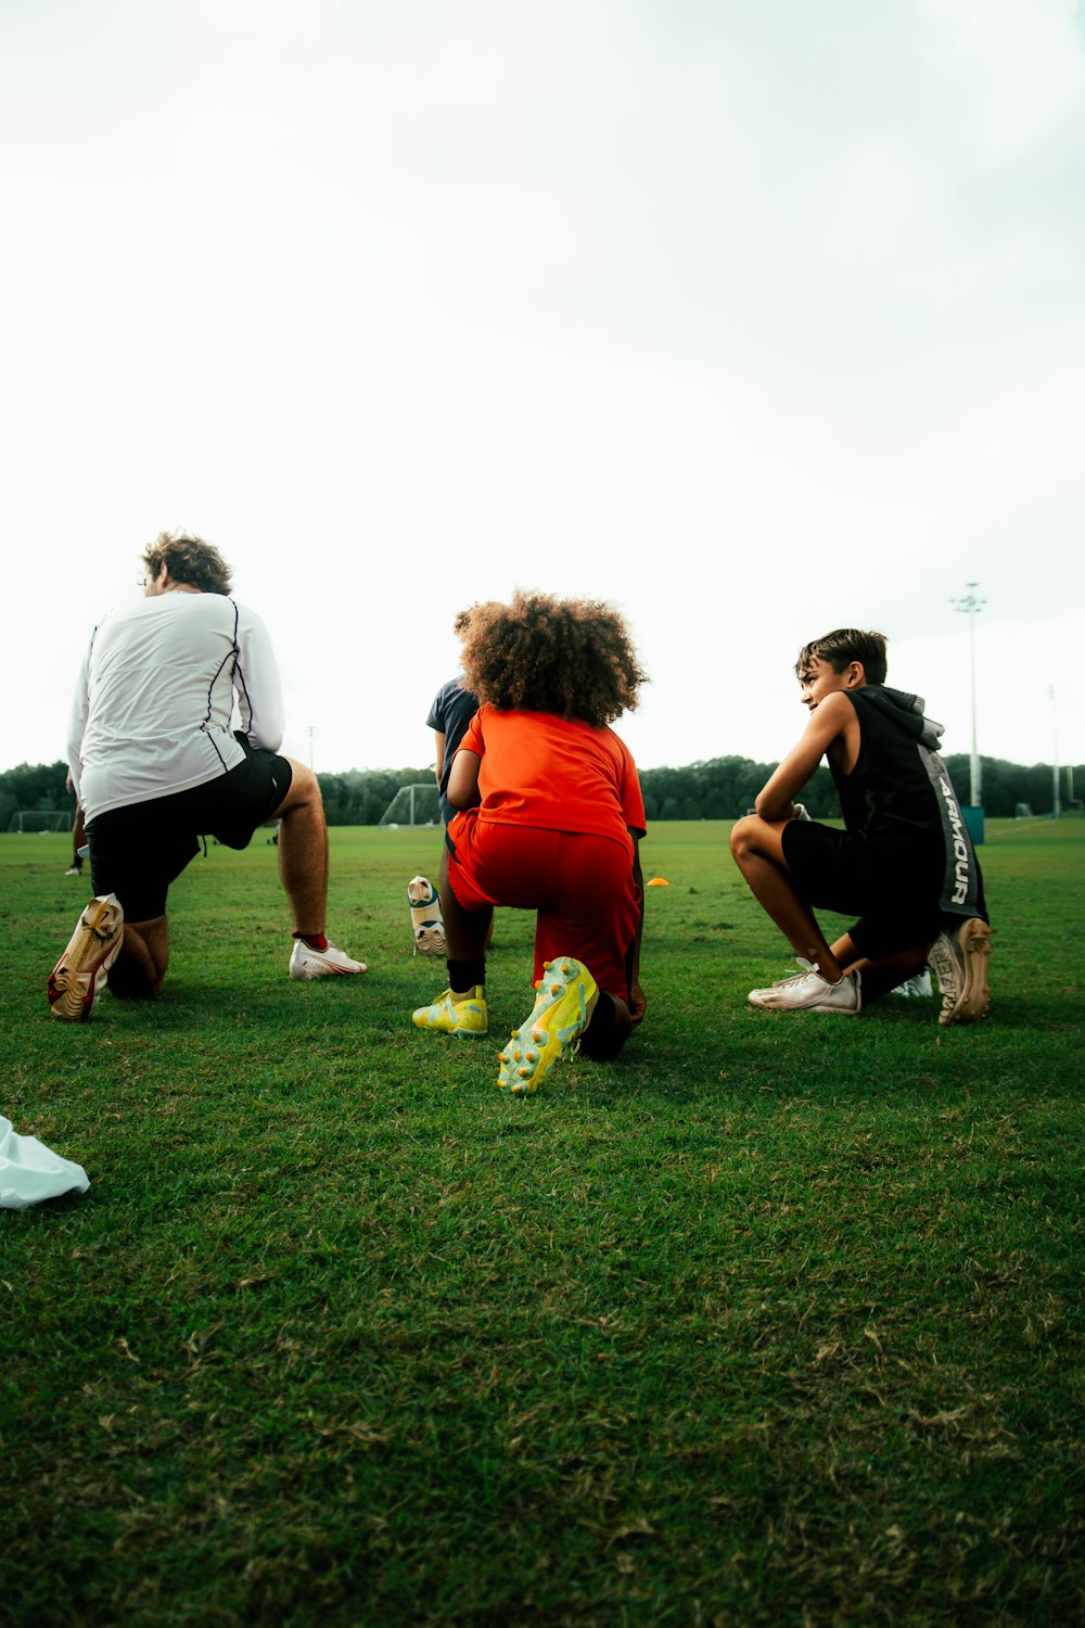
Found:
[[[610,1060],[644,1017],[644,801],[610,724],[636,707],[646,674],[625,622],[597,601],[517,591],[454,625],[480,707],[447,786],[460,811],[441,866],[449,988],[413,1021],[486,1034],[495,905],[535,910],[538,995],[498,1076],[527,1092],[577,1039],[586,1057]]]

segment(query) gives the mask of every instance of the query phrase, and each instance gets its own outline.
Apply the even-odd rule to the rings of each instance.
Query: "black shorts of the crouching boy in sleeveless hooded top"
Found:
[[[939,834],[926,843],[870,845],[833,825],[792,819],[781,840],[799,897],[812,910],[856,917],[849,934],[869,961],[939,936],[945,864]]]

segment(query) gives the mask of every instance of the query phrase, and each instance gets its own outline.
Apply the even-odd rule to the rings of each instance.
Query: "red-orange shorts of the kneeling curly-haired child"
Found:
[[[540,830],[457,814],[446,834],[449,886],[464,910],[537,910],[535,977],[543,962],[576,956],[600,990],[630,998],[641,915],[633,838]]]

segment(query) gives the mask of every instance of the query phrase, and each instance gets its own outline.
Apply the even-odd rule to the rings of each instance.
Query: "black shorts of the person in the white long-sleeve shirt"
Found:
[[[246,759],[202,786],[96,814],[86,827],[94,894],[115,894],[129,921],[166,913],[169,884],[200,851],[200,837],[247,848],[257,827],[280,806],[293,768],[275,752],[242,737]]]

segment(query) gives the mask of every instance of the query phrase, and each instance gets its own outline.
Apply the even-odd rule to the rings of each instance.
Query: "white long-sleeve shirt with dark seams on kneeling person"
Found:
[[[283,694],[264,622],[223,594],[172,591],[111,610],[94,628],[68,729],[86,819],[200,786],[252,746],[278,751]]]

